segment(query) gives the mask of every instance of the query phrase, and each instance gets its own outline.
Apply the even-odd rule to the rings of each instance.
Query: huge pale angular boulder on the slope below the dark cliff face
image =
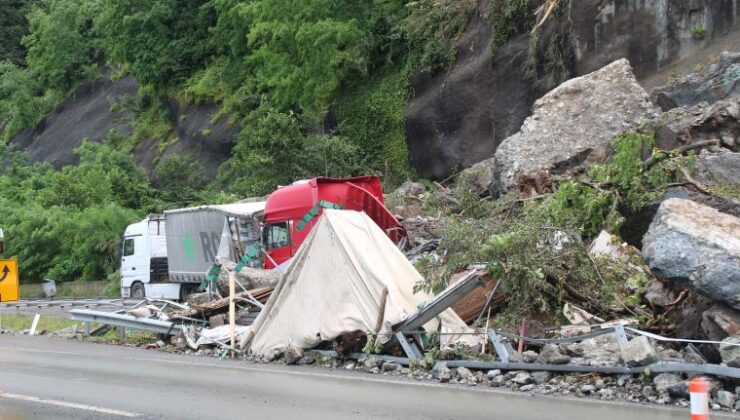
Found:
[[[601,162],[615,136],[657,112],[625,59],[571,79],[535,102],[521,131],[496,150],[491,192],[499,195],[539,171],[574,173]]]

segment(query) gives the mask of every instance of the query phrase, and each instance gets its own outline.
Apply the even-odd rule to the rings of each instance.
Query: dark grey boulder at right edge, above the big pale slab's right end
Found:
[[[655,89],[652,98],[664,110],[740,98],[740,53],[724,52],[706,71],[690,74]]]

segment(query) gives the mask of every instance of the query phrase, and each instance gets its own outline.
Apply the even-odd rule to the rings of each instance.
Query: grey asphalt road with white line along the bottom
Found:
[[[0,335],[0,392],[2,420],[690,417],[688,409],[533,397],[321,367],[255,365],[7,335]],[[712,416],[717,418],[724,416]]]

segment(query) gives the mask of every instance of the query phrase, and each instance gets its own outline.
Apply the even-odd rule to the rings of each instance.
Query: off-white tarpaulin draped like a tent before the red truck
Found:
[[[383,231],[364,213],[325,210],[296,253],[245,339],[254,354],[274,357],[287,347],[315,347],[347,332],[374,332],[383,289],[388,288],[378,340],[431,300],[414,293],[423,279]],[[442,332],[467,332],[451,309],[440,316]],[[437,330],[438,321],[425,328]],[[444,342],[460,337],[444,335]],[[472,337],[466,337],[472,338]],[[470,340],[468,340],[470,342]]]

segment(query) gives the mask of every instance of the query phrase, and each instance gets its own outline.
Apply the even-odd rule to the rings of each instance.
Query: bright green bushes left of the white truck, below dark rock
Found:
[[[17,256],[21,281],[100,280],[119,266],[119,238],[155,209],[155,191],[132,158],[84,143],[78,166],[54,171],[0,145],[0,208],[5,255]]]

